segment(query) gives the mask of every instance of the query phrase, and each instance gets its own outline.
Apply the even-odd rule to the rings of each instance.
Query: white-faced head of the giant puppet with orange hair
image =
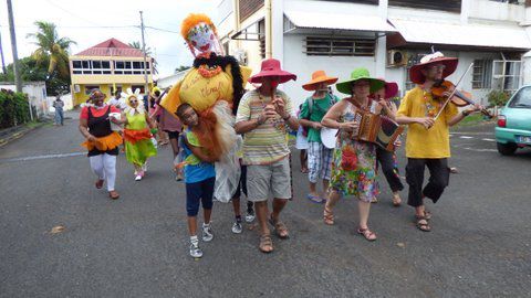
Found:
[[[194,56],[217,53],[223,55],[218,32],[210,18],[202,13],[191,13],[184,21],[180,34],[186,40]]]

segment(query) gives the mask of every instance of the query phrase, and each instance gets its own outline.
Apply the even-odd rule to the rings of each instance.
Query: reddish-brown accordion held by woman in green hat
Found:
[[[395,141],[404,131],[404,127],[388,117],[356,110],[354,121],[360,126],[351,137],[356,140],[376,143],[387,151],[395,150]]]

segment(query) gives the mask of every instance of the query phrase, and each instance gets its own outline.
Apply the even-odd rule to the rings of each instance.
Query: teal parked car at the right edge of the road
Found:
[[[531,86],[523,86],[511,96],[498,116],[494,135],[498,151],[503,156],[531,146]]]

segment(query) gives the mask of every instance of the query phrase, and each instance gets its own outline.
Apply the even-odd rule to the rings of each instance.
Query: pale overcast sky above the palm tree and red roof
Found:
[[[35,21],[53,22],[60,36],[75,42],[71,54],[79,53],[107,39],[122,42],[140,41],[138,11],[146,29],[146,45],[158,62],[159,76],[173,74],[179,65],[191,65],[192,56],[179,33],[183,19],[190,12],[216,18],[218,0],[12,0],[19,58],[35,50],[28,33],[37,31]],[[6,65],[12,62],[7,2],[0,1],[0,26]],[[122,26],[122,28],[121,28]],[[125,26],[125,28],[124,28]],[[167,31],[163,31],[167,30]]]

